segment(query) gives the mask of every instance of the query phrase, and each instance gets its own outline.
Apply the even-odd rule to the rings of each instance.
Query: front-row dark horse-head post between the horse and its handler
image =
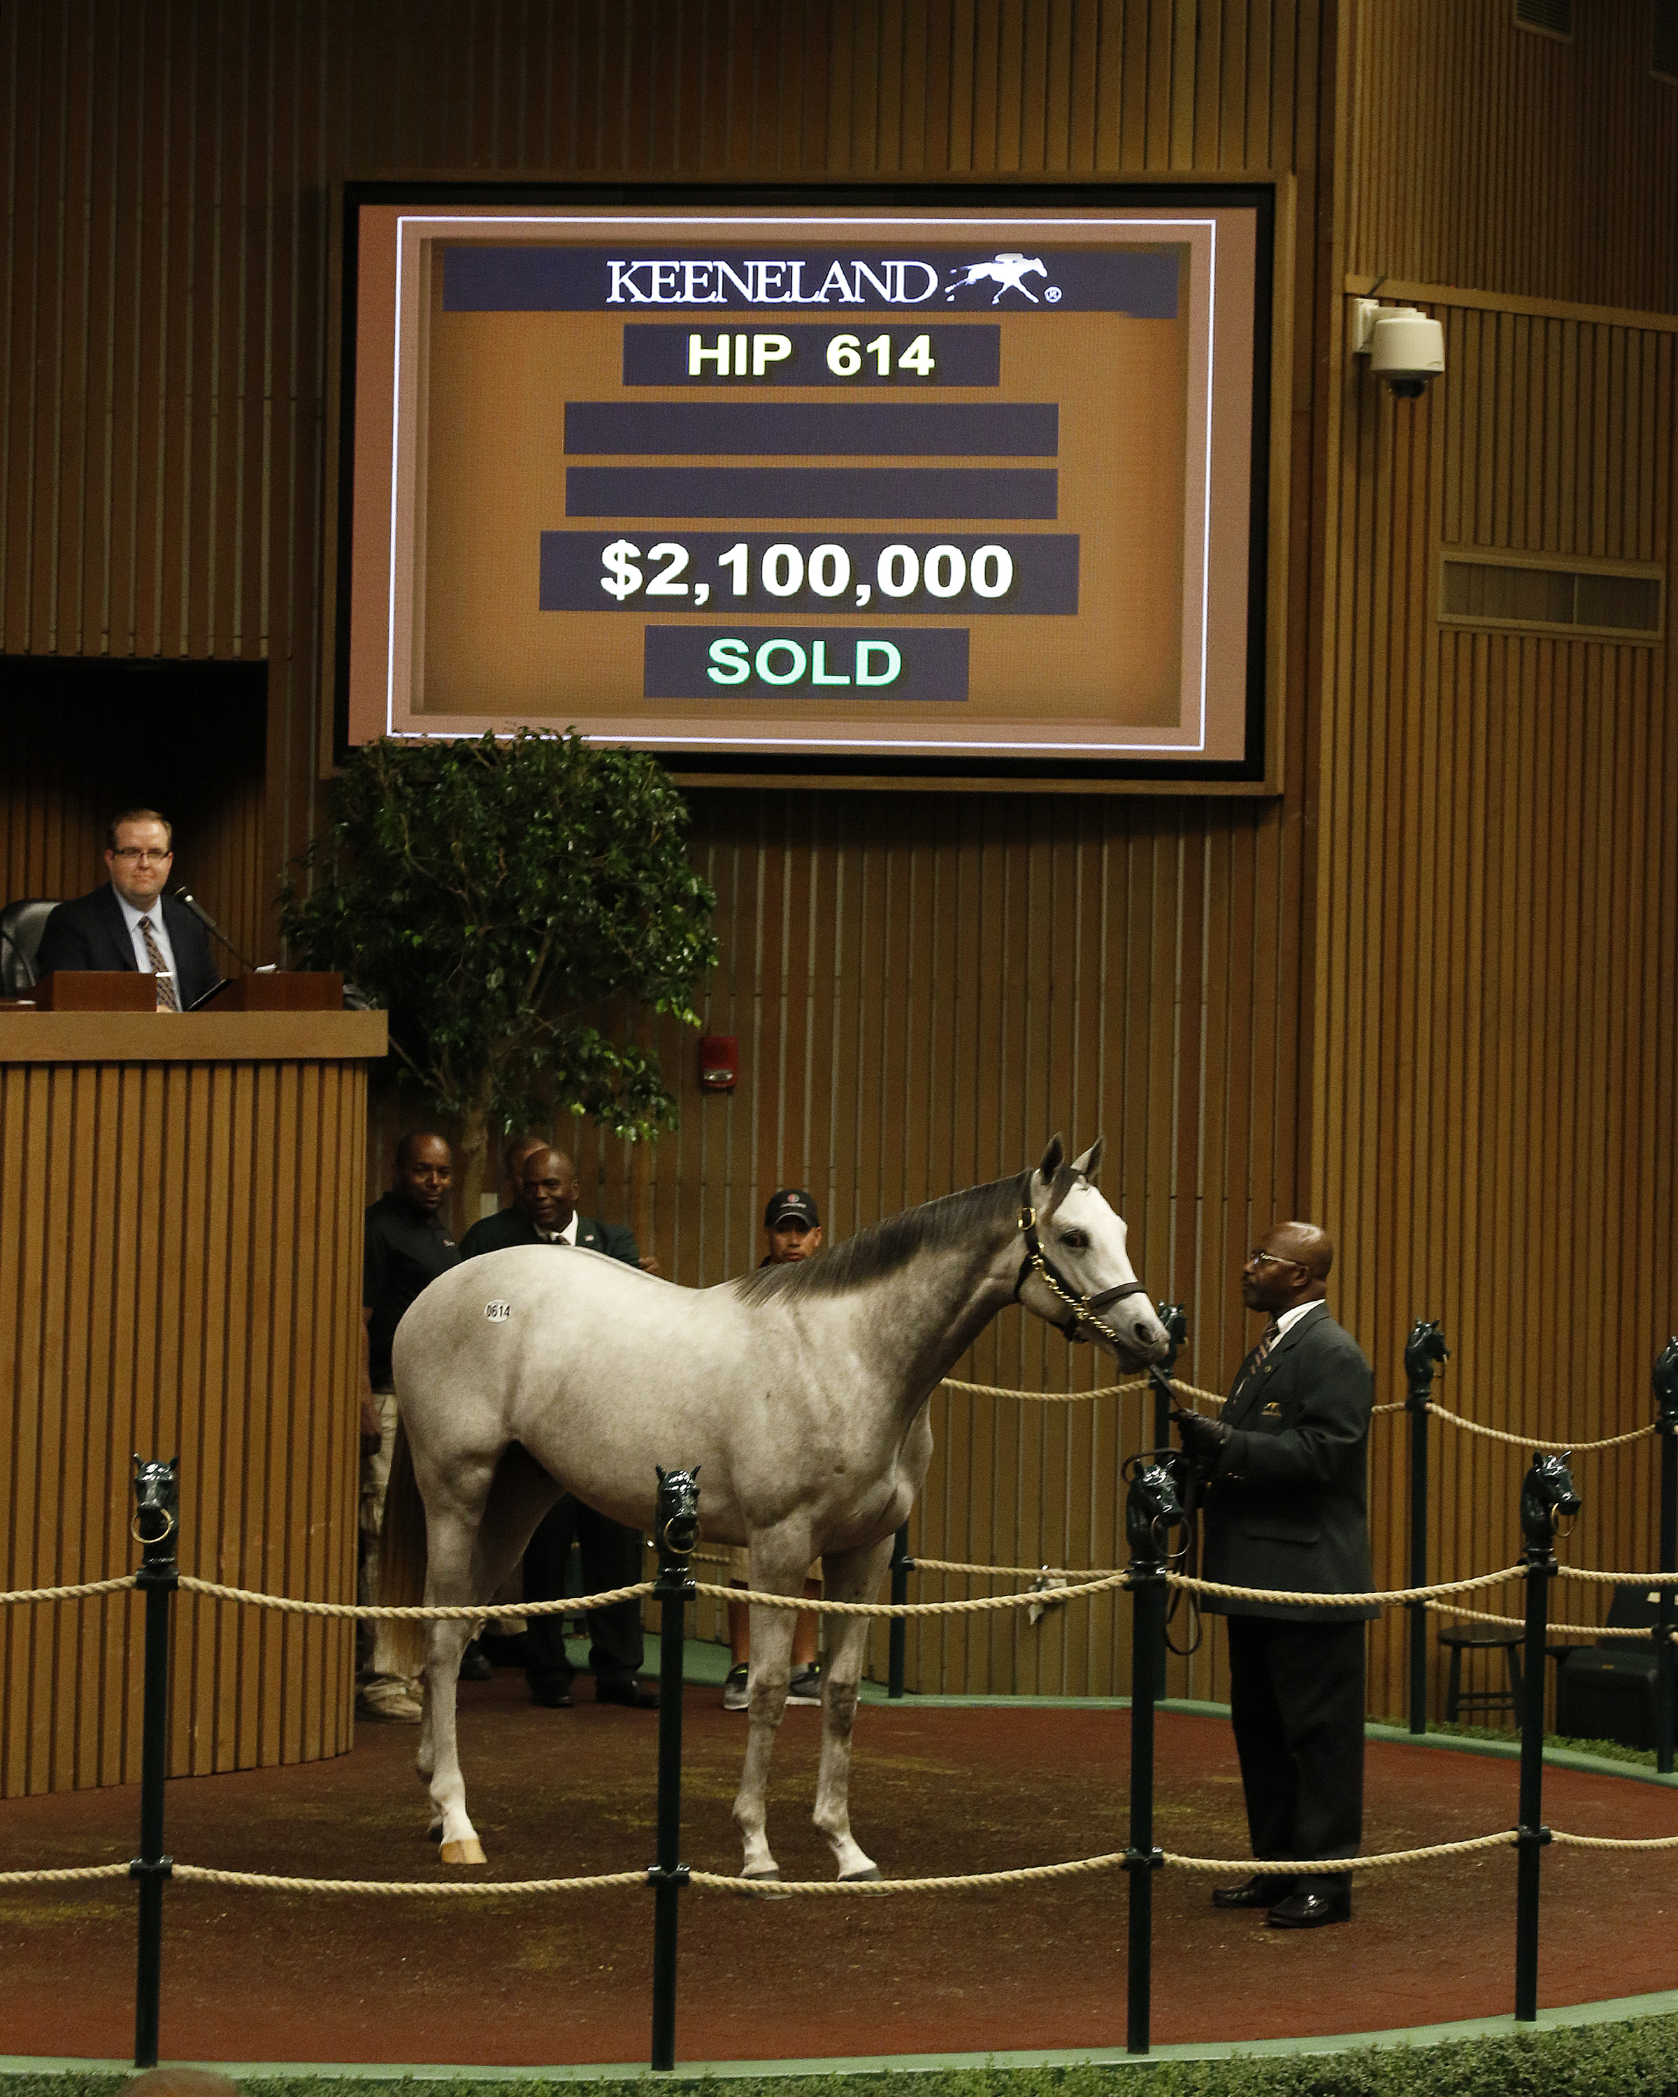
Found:
[[[1166,1569],[1162,1539],[1183,1520],[1177,1485],[1181,1460],[1149,1464],[1133,1457],[1124,1472],[1124,1535],[1131,1545],[1131,1931],[1126,1967],[1124,2051],[1147,2053],[1154,2005],[1154,1873],[1164,1862],[1154,1847],[1154,1684],[1164,1673]]]

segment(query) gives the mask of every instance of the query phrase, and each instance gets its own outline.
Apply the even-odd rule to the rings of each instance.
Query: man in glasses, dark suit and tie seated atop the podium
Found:
[[[105,887],[59,904],[46,921],[36,975],[55,969],[136,969],[157,977],[157,1011],[180,1013],[216,988],[210,942],[193,912],[164,895],[174,828],[155,807],[111,818]]]

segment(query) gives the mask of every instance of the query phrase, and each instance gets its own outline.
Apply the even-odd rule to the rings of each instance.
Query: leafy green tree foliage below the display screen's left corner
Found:
[[[390,1048],[468,1151],[489,1124],[587,1114],[619,1137],[675,1122],[659,1059],[598,1023],[625,994],[698,1025],[715,895],[688,809],[644,755],[581,736],[359,749],[331,786],[281,931],[390,1015]]]

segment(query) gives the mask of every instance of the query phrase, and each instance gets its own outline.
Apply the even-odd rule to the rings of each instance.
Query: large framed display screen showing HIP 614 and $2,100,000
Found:
[[[1258,776],[1269,193],[501,195],[346,197],[350,742]]]

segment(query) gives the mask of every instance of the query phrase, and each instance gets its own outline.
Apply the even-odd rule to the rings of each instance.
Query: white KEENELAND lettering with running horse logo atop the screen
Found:
[[[636,262],[608,260],[608,306],[923,306],[938,294],[940,266],[917,258],[862,262],[858,258],[822,268],[803,256],[787,260],[724,260],[713,256]],[[996,285],[994,306],[1003,291],[1019,291],[1034,306],[1036,291],[1026,277],[1045,277],[1042,256],[998,254],[990,262],[963,262],[950,268],[944,298],[969,285]],[[1042,298],[1059,300],[1059,287],[1047,285]]]

